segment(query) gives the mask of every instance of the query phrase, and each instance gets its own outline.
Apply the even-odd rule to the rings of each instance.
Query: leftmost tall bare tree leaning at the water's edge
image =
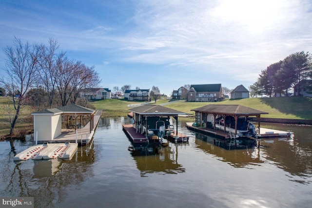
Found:
[[[38,52],[38,46],[31,46],[28,42],[22,44],[17,38],[12,46],[4,49],[7,57],[5,72],[8,77],[1,77],[0,82],[11,96],[15,110],[15,115],[10,119],[10,135],[14,131],[28,91],[37,83]]]

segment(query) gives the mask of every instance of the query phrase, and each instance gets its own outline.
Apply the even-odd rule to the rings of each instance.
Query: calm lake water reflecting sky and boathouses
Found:
[[[189,122],[192,122],[190,120]],[[161,154],[132,156],[122,124],[101,118],[91,147],[72,160],[13,161],[31,140],[0,142],[0,196],[32,196],[35,208],[310,208],[312,127],[261,124],[294,132],[260,148],[225,150],[187,130],[187,144]],[[14,148],[12,148],[14,146]]]

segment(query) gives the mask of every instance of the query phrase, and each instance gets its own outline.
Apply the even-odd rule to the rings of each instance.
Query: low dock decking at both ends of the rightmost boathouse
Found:
[[[215,130],[212,128],[205,128],[205,127],[195,127],[193,126],[193,123],[187,122],[186,127],[190,130],[195,130],[197,132],[202,132],[205,134],[209,134],[212,136],[219,136],[223,138],[230,138],[229,132],[224,132],[221,130]],[[284,132],[279,130],[273,130],[273,129],[267,129],[260,127],[260,134],[257,134],[258,138],[272,138],[272,137],[288,137],[291,136],[292,132]]]

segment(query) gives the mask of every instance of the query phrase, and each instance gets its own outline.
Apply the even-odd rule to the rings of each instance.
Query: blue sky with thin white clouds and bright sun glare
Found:
[[[58,41],[113,89],[171,95],[185,84],[234,89],[269,65],[312,52],[311,0],[0,0],[3,49]],[[60,51],[59,51],[60,52]]]

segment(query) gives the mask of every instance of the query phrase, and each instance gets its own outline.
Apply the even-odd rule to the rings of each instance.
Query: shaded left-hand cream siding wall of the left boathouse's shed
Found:
[[[51,140],[51,115],[34,115],[34,132],[38,141]]]

